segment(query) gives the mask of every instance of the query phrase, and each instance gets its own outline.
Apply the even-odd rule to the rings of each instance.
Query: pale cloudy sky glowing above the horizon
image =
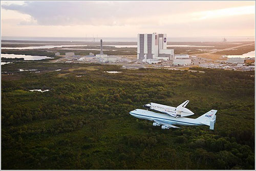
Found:
[[[1,35],[255,36],[255,1],[1,1]]]

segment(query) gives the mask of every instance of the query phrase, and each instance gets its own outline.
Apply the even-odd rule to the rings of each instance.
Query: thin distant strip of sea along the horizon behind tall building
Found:
[[[2,36],[2,40],[30,41],[137,41],[137,37],[13,37]],[[222,41],[224,37],[167,37],[167,41]],[[227,41],[254,41],[254,36],[228,36]]]

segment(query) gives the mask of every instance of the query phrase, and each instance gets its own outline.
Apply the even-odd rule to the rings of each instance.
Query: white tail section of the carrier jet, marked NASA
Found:
[[[210,110],[196,119],[201,124],[210,126],[210,130],[214,130],[214,124],[216,122],[216,113],[217,113],[217,110]]]

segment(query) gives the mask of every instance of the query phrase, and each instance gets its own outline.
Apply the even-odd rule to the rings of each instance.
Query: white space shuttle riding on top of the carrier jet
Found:
[[[148,103],[148,104],[143,105],[143,107],[145,107],[147,109],[159,111],[161,113],[165,113],[165,114],[168,114],[170,116],[177,118],[177,117],[185,117],[185,116],[190,116],[190,115],[195,114],[192,111],[190,111],[189,109],[185,108],[187,106],[188,102],[189,101],[187,100],[177,107],[166,106],[166,105],[161,105],[161,104],[157,104],[157,103]]]

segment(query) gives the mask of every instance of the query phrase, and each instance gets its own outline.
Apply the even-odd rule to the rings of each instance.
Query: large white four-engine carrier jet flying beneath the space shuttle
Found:
[[[210,110],[205,114],[203,114],[202,116],[196,119],[193,119],[193,118],[187,118],[187,117],[177,117],[167,112],[156,113],[153,111],[148,111],[143,109],[135,109],[130,112],[130,114],[134,117],[154,121],[153,126],[161,126],[162,129],[179,128],[179,127],[176,127],[175,125],[182,125],[182,126],[206,125],[210,127],[210,130],[214,130],[216,113],[217,113],[217,110]]]

